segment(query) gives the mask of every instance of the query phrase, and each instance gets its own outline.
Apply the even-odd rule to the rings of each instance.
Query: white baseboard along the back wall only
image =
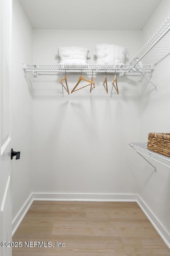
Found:
[[[34,200],[136,202],[136,194],[33,193]]]

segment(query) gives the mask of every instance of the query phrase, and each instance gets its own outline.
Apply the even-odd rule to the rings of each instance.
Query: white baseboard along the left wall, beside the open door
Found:
[[[15,218],[12,221],[12,235],[14,235],[15,231],[17,230],[19,224],[21,223],[22,219],[24,218],[25,214],[27,213],[29,207],[31,206],[33,202],[33,194],[28,197],[22,208],[19,210],[18,214],[15,216]]]

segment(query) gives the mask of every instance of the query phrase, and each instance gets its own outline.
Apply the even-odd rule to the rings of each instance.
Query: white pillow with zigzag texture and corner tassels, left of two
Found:
[[[59,47],[56,54],[61,58],[60,64],[63,65],[86,65],[87,59],[90,59],[90,53],[84,47]]]

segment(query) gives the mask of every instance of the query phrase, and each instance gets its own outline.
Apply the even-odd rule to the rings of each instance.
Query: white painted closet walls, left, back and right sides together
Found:
[[[57,64],[59,46],[80,45],[88,47],[88,63],[95,64],[95,45],[102,42],[126,46],[128,63],[168,17],[169,9],[170,2],[163,0],[142,32],[34,30],[32,59],[32,28],[18,0],[13,0],[12,137],[21,151],[20,161],[12,162],[13,217],[31,193],[32,182],[33,192],[139,193],[167,229],[168,240],[169,169],[154,162],[154,173],[126,146],[129,141],[147,141],[150,131],[168,132],[170,57],[152,74],[157,92],[145,79],[140,87],[136,77],[123,77],[118,78],[120,94],[114,91],[110,98],[102,86],[104,77],[97,76],[91,94],[86,88],[61,97],[60,77],[34,79],[32,179],[31,82],[29,87],[21,63]],[[70,91],[78,77],[67,75]],[[109,91],[111,80],[108,76]]]

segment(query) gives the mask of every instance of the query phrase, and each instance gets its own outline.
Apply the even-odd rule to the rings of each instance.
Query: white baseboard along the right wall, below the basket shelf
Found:
[[[143,199],[138,195],[137,203],[141,207],[142,211],[145,213],[147,218],[150,220],[158,234],[162,237],[166,245],[170,249],[170,234],[159,221],[159,219],[155,216],[155,214],[151,211],[151,209],[147,206],[147,204],[143,201]]]

